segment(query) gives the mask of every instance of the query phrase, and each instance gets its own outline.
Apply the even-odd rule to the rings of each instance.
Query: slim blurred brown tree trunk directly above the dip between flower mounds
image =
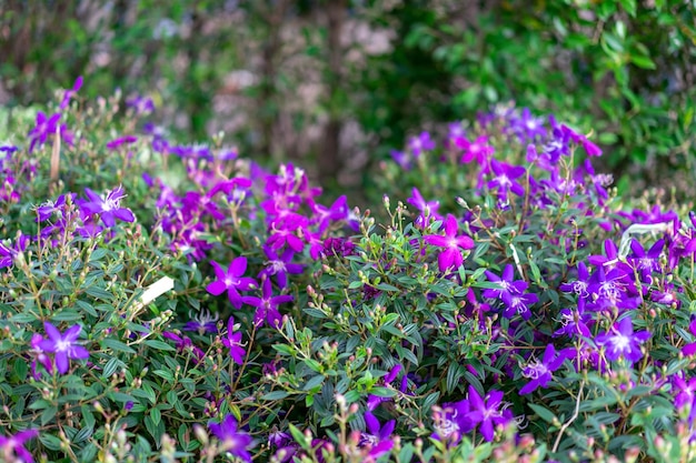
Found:
[[[344,48],[341,33],[346,21],[347,0],[328,0],[325,8],[327,16],[328,70],[326,77],[329,120],[324,129],[324,143],[319,152],[318,170],[319,182],[324,185],[336,184],[337,177],[342,168],[340,154],[340,132],[342,128],[342,108],[340,108],[339,92],[341,91],[341,74]]]

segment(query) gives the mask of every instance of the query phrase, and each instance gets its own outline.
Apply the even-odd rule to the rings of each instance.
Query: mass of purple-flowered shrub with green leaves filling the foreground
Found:
[[[696,455],[696,217],[584,134],[424,132],[361,213],[78,92],[0,148],[6,461]]]

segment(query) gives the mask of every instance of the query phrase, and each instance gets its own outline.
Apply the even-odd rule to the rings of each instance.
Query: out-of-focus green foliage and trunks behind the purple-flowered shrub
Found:
[[[0,0],[0,104],[151,97],[171,137],[368,191],[406,137],[496,104],[595,133],[620,191],[696,188],[696,1]],[[10,109],[10,110],[8,110]],[[0,124],[3,121],[0,120]],[[359,202],[359,200],[356,200]]]

